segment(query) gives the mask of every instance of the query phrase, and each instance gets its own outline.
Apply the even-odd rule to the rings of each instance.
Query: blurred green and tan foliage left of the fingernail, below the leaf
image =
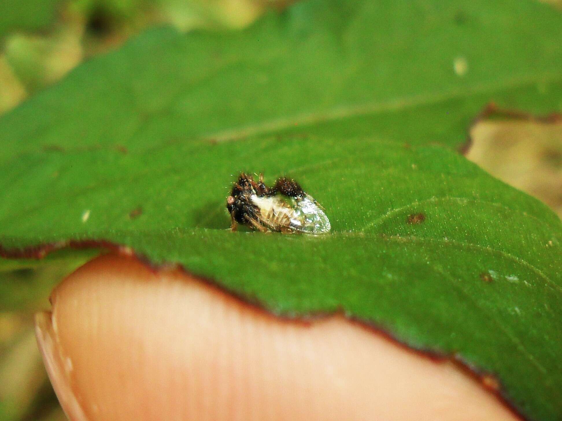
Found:
[[[87,261],[66,251],[44,260],[9,260],[0,269],[0,420],[63,421],[40,358],[33,313],[48,309],[51,290]]]

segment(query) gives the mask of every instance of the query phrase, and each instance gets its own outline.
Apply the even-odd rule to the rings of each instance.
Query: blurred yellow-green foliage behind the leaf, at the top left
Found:
[[[5,0],[0,2],[0,113],[85,58],[151,25],[234,29],[285,0]],[[39,31],[39,32],[38,32]]]

